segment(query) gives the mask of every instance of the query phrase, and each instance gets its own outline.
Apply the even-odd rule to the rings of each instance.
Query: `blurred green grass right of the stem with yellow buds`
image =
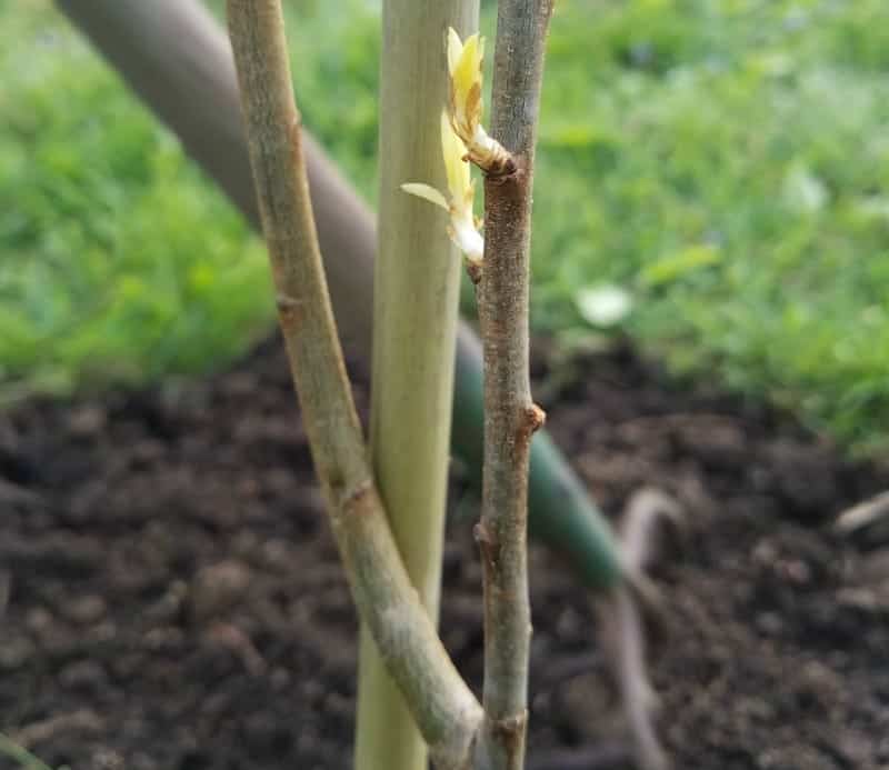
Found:
[[[885,444],[889,6],[581,6],[548,61],[538,326],[616,283],[675,371]]]

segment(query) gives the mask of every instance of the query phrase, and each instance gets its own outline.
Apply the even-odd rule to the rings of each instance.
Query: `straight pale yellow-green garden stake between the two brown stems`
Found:
[[[403,182],[444,187],[439,120],[444,33],[478,24],[478,0],[384,0],[374,266],[371,454],[408,573],[438,616],[460,259],[446,218]],[[362,632],[357,770],[424,770],[426,748]]]

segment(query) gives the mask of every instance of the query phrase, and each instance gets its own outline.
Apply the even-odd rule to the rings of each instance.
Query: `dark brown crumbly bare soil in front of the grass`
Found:
[[[650,644],[676,767],[889,767],[889,551],[831,528],[889,472],[629,350],[551,360],[548,424],[606,511],[641,486],[685,509]],[[471,507],[459,469],[451,497]],[[20,744],[72,770],[350,767],[356,619],[277,340],[207,380],[0,416],[0,511]],[[470,529],[452,517],[441,628],[478,687]],[[631,767],[590,597],[545,547],[531,566],[529,767]]]

